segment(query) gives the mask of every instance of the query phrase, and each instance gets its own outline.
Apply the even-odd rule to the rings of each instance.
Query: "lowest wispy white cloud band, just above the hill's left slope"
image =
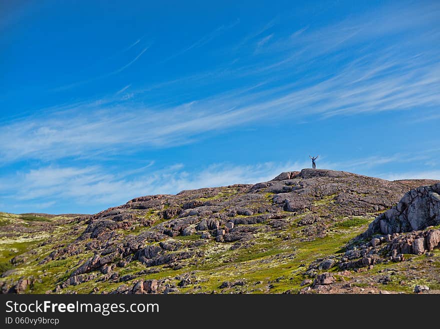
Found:
[[[122,204],[130,198],[150,194],[175,194],[185,189],[225,186],[235,183],[253,184],[269,180],[280,172],[299,167],[298,163],[261,163],[234,166],[213,164],[199,172],[188,172],[181,164],[151,170],[149,166],[118,174],[107,173],[99,166],[47,166],[2,177],[6,183],[0,195],[4,199],[25,201],[39,208],[51,207],[53,202],[70,200],[81,207],[93,202],[95,211],[102,207]],[[43,201],[41,201],[43,200]],[[30,211],[30,210],[29,210]],[[66,211],[76,212],[71,208]]]

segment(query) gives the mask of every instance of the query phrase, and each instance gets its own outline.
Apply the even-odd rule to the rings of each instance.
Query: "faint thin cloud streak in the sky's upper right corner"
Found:
[[[307,49],[307,54],[315,56],[342,47],[365,42],[374,43],[383,37],[398,37],[400,33],[405,33],[405,38],[415,41],[417,37],[421,37],[416,33],[420,28],[431,29],[429,33],[438,31],[435,23],[439,14],[440,6],[434,2],[382,6],[362,15],[350,16],[329,26],[313,28],[309,25],[284,38],[278,38],[266,51],[287,51],[304,47]],[[432,36],[435,37],[435,33]]]

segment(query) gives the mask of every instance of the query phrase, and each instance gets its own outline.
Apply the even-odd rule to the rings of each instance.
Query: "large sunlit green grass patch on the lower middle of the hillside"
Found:
[[[301,273],[305,268],[301,266],[302,264],[308,266],[317,257],[337,252],[355,235],[356,232],[335,234],[306,242],[296,240],[285,242],[281,239],[272,239],[267,235],[259,236],[258,242],[252,246],[235,250],[219,250],[211,254],[203,264],[186,268],[185,272],[191,270],[197,272],[197,277],[203,282],[201,290],[197,292],[212,290],[220,292],[218,286],[221,282],[231,282],[242,278],[249,282],[247,287],[237,286],[225,291],[238,292],[241,291],[240,289],[249,289],[243,292],[281,293],[289,289],[297,292],[301,288],[299,283],[304,279]],[[227,247],[230,245],[227,244]],[[212,248],[213,246],[215,243],[204,247]],[[156,278],[162,275],[161,272],[154,274]],[[262,283],[255,286],[254,283],[258,281]],[[193,292],[192,289],[194,287],[188,286],[181,289],[181,292]]]

